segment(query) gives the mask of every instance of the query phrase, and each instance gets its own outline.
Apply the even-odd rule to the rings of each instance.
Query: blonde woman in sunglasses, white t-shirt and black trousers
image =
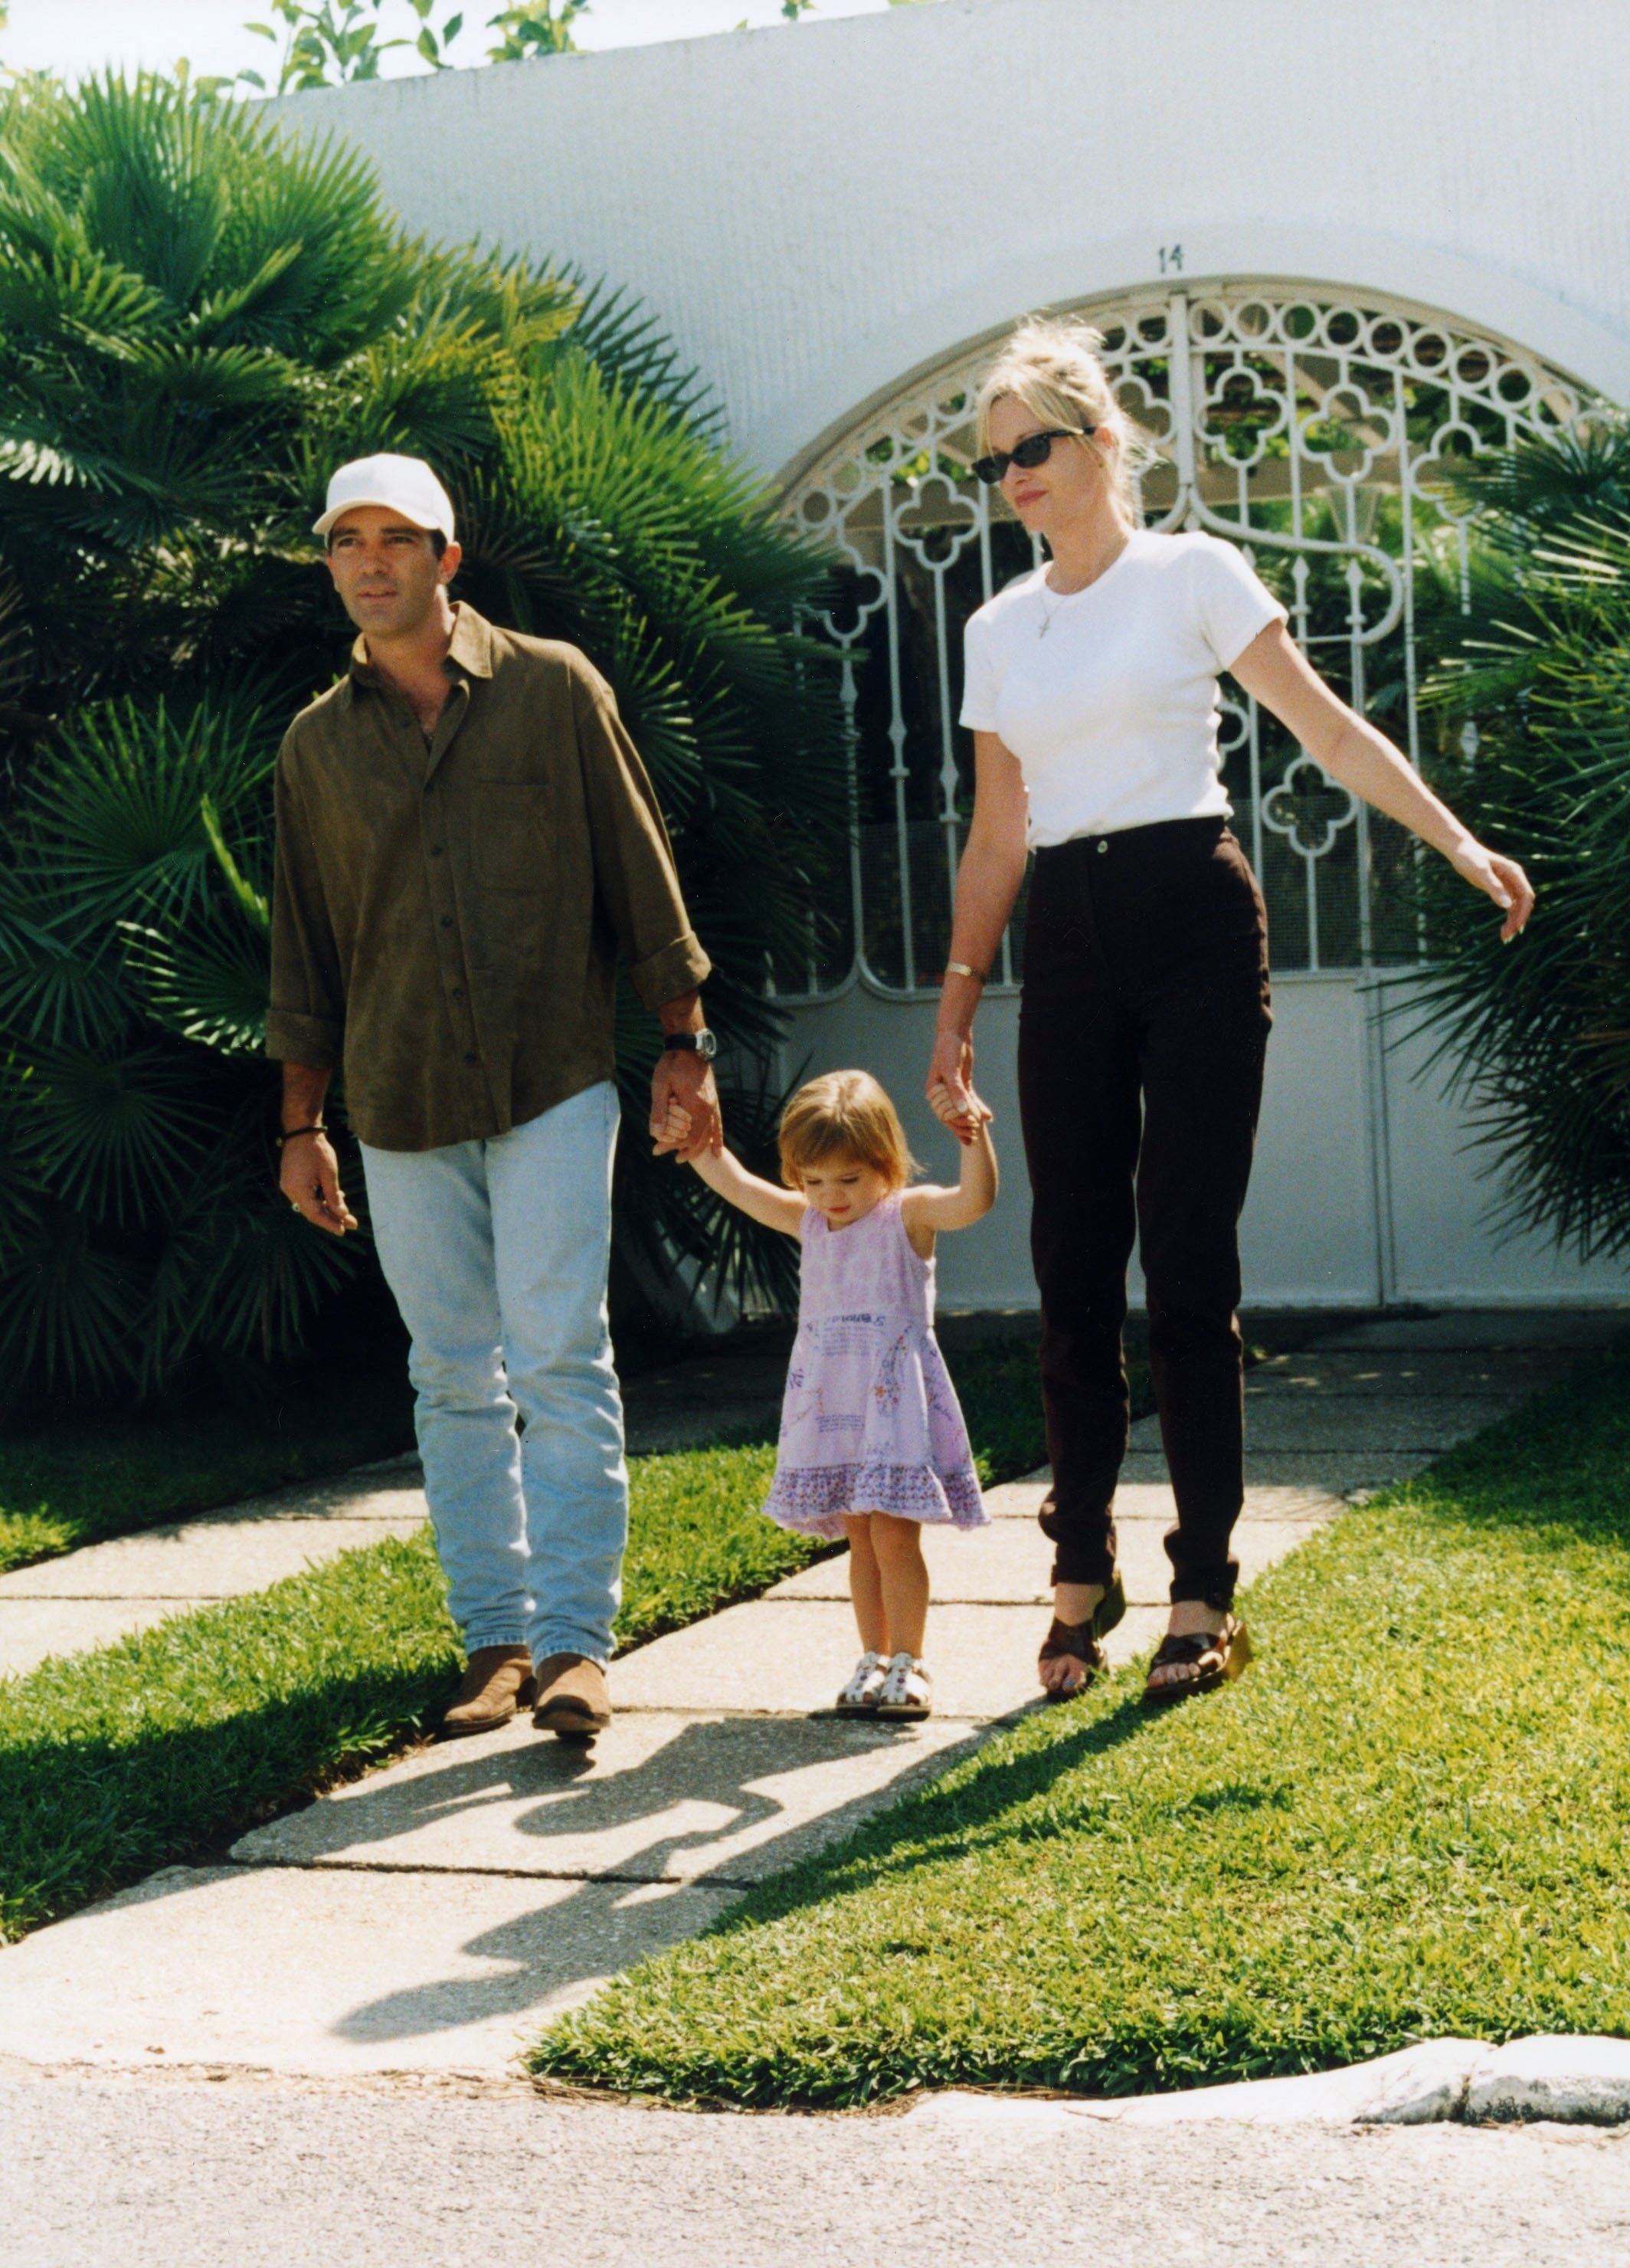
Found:
[[[1177,1497],[1172,1615],[1145,1687],[1165,1703],[1249,1660],[1229,1551],[1245,1495],[1233,1311],[1270,1007],[1263,898],[1226,826],[1217,674],[1487,891],[1501,937],[1523,928],[1533,889],[1315,676],[1233,544],[1138,526],[1147,442],[1097,347],[1084,324],[1027,322],[979,388],[975,472],[1050,560],[968,624],[975,812],[927,1095],[970,1125],[973,1018],[1029,846],[1018,1093],[1052,1458],[1041,1526],[1054,1545],[1041,1681],[1054,1699],[1079,1692],[1124,1613],[1111,1506],[1136,1227]]]

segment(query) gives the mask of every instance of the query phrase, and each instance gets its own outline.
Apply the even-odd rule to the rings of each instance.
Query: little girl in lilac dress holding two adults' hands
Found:
[[[764,1510],[800,1535],[848,1538],[866,1649],[843,1715],[927,1717],[923,1522],[986,1526],[968,1429],[934,1338],[934,1236],[995,1204],[984,1116],[961,1120],[957,1188],[907,1188],[893,1102],[866,1070],[800,1086],[780,1125],[782,1179],[730,1152],[691,1159],[730,1204],[803,1241],[798,1340]]]

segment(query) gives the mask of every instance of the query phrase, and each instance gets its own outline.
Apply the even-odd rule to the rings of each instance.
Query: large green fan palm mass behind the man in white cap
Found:
[[[290,1352],[347,1270],[274,1198],[270,769],[349,631],[308,528],[329,469],[435,460],[460,592],[612,680],[673,828],[759,1129],[775,953],[843,826],[793,635],[823,565],[719,449],[635,308],[408,240],[349,154],[186,88],[0,104],[0,1377],[152,1388]],[[655,1034],[623,1005],[637,1098]],[[621,1281],[784,1290],[694,1175],[628,1143]]]

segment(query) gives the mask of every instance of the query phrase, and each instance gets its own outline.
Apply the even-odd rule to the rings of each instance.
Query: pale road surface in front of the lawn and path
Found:
[[[739,2118],[0,2075],[5,2268],[1623,2268],[1630,2132]]]

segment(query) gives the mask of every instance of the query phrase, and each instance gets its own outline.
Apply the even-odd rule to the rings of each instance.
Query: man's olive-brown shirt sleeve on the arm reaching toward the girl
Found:
[[[657,1009],[696,991],[712,962],[689,925],[669,830],[610,685],[585,669],[574,696],[594,887],[635,991]]]

